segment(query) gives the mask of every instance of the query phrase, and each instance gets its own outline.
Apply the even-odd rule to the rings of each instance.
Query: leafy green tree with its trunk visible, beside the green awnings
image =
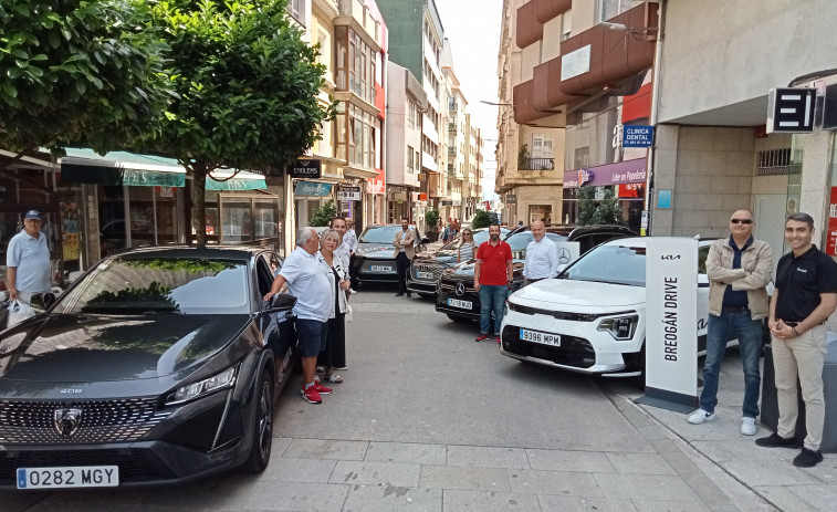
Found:
[[[168,73],[178,93],[146,147],[178,159],[191,184],[187,215],[206,244],[205,186],[216,168],[269,171],[304,154],[336,102],[317,100],[325,66],[289,20],[286,0],[159,0]],[[188,224],[187,224],[188,226]]]

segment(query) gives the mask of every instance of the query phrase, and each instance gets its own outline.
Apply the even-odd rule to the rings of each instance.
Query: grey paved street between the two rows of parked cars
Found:
[[[3,510],[773,510],[723,474],[714,483],[716,468],[628,400],[638,396],[628,382],[503,357],[494,343],[473,342],[475,324],[388,286],[366,286],[352,302],[345,383],[320,406],[303,401],[295,382],[285,388],[263,474],[8,492]]]

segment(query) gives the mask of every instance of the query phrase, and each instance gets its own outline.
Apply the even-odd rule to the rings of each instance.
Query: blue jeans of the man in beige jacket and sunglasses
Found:
[[[744,405],[742,416],[755,418],[758,416],[758,388],[762,376],[758,370],[758,358],[762,354],[763,321],[752,320],[749,311],[736,313],[721,313],[721,316],[709,314],[707,326],[707,361],[703,364],[703,391],[700,394],[700,408],[707,412],[714,412],[718,405],[718,376],[721,372],[726,353],[726,342],[730,334],[739,338],[741,365],[744,367]]]

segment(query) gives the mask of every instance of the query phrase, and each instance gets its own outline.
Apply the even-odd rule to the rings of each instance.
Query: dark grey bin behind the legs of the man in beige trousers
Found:
[[[827,354],[823,366],[823,393],[825,395],[825,426],[820,450],[825,453],[837,452],[837,333],[828,333]],[[797,382],[799,416],[796,418],[796,439],[802,445],[805,429],[805,403],[802,388]],[[764,347],[764,370],[762,372],[762,415],[760,422],[775,431],[778,426],[778,401],[776,396],[776,374],[773,367],[773,347]]]

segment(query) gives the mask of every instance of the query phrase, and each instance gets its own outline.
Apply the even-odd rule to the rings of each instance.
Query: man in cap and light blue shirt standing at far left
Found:
[[[23,229],[9,241],[6,265],[9,299],[30,303],[33,294],[50,291],[50,247],[41,232],[40,211],[27,211]]]

